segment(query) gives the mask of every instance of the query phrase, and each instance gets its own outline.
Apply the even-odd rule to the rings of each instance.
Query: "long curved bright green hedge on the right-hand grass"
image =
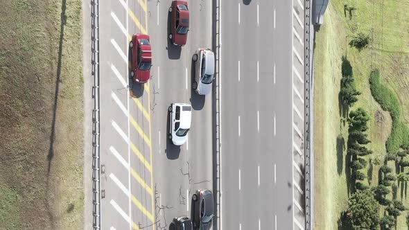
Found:
[[[378,69],[371,71],[369,75],[369,85],[372,96],[382,109],[390,112],[392,117],[392,130],[388,141],[386,141],[386,151],[388,153],[397,152],[399,148],[409,148],[409,130],[400,120],[401,107],[394,92],[381,84],[381,76]]]

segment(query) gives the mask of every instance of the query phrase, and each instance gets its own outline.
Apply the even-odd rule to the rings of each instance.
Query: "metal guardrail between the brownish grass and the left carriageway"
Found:
[[[91,51],[92,51],[92,98],[94,109],[92,110],[92,226],[101,229],[101,180],[100,180],[100,67],[99,67],[99,0],[91,0]]]

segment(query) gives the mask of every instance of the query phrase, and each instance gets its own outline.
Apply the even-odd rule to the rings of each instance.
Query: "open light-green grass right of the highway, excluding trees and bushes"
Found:
[[[345,3],[357,8],[352,19],[348,13],[345,17]],[[385,141],[392,123],[389,113],[383,112],[372,98],[368,81],[372,67],[381,70],[382,83],[397,94],[403,118],[409,123],[408,8],[408,0],[333,0],[325,13],[324,24],[315,34],[315,229],[337,229],[340,212],[347,208],[349,196],[346,152],[340,147],[342,140],[347,141],[347,126],[338,112],[341,57],[351,62],[357,89],[362,93],[351,109],[363,107],[371,118],[367,132],[372,141],[367,147],[374,150],[371,162],[382,159],[385,154]],[[347,46],[351,39],[347,35],[356,32],[367,33],[373,39],[372,44],[360,52]],[[367,184],[378,184],[378,168],[374,163],[369,164],[365,173]],[[401,198],[398,194],[398,199]],[[406,198],[403,202],[409,207]],[[405,216],[406,213],[402,213],[398,218],[397,229],[408,229]]]

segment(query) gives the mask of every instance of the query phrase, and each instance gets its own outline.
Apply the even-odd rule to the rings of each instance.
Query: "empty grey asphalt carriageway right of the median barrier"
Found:
[[[220,2],[222,229],[304,228],[294,218],[295,206],[302,206],[293,175],[304,163],[293,160],[295,149],[302,149],[294,129],[304,132],[303,122],[294,119],[304,112],[294,99],[304,95],[293,74],[297,68],[303,73],[293,64],[297,52],[303,54],[293,42],[295,14],[303,9],[293,4],[299,2]]]

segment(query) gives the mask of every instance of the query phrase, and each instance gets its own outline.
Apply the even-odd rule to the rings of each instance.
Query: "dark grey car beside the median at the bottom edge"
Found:
[[[207,189],[196,191],[192,196],[193,227],[207,230],[211,228],[214,215],[213,194]]]

